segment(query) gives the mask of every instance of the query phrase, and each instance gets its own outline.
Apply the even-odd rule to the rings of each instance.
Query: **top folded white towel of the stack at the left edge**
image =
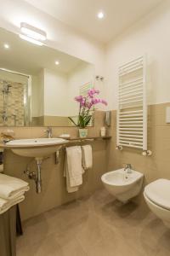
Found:
[[[0,197],[12,200],[28,191],[29,184],[17,177],[0,173]]]

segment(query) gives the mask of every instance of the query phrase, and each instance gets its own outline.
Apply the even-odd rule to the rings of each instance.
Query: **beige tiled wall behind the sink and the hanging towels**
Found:
[[[105,112],[95,113],[95,125],[88,128],[88,135],[99,136],[100,127],[104,125]],[[6,128],[0,128],[0,132]],[[14,127],[16,138],[44,137],[44,127]],[[61,133],[70,133],[72,137],[77,137],[78,131],[74,127],[54,127],[53,135],[58,137]],[[14,177],[20,177],[30,183],[31,189],[26,193],[26,200],[20,204],[21,217],[31,218],[41,212],[48,211],[65,202],[89,195],[95,189],[102,186],[100,177],[106,172],[106,141],[96,141],[91,143],[94,154],[94,166],[83,175],[83,184],[78,192],[68,194],[65,187],[65,177],[63,177],[63,167],[65,160],[65,150],[59,157],[59,164],[54,164],[54,155],[42,164],[42,194],[37,195],[34,181],[29,180],[24,171],[26,165],[32,161],[30,158],[20,157],[12,151],[5,151],[4,172]],[[35,161],[31,162],[31,170],[36,170]]]

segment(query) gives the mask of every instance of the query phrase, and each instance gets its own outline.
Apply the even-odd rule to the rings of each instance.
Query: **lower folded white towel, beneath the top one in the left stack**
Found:
[[[3,212],[8,211],[8,209],[10,207],[13,207],[16,204],[19,204],[21,201],[25,200],[25,196],[21,195],[19,197],[16,197],[13,200],[6,200],[3,198],[0,198],[0,214],[2,214]]]

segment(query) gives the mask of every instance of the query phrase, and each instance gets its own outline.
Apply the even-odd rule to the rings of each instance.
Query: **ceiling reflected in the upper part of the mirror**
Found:
[[[4,49],[3,44],[9,44],[10,48]],[[57,60],[59,66],[54,63]],[[0,28],[0,68],[27,74],[37,74],[42,68],[70,73],[81,63],[86,62],[57,49],[31,44]]]

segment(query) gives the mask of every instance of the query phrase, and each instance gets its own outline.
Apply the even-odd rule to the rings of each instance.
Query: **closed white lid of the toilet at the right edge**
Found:
[[[157,179],[145,186],[144,193],[157,206],[170,210],[170,180]]]

